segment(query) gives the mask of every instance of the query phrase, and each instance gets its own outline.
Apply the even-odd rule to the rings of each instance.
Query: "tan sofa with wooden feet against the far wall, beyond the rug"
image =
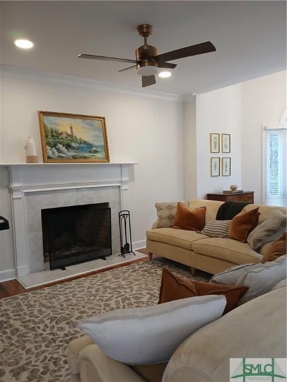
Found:
[[[215,200],[189,200],[189,208],[206,207],[205,220],[214,220],[222,201]],[[250,210],[259,207],[261,221],[269,212],[281,210],[286,213],[284,207],[273,207],[260,204],[248,204],[245,209]],[[252,250],[248,243],[223,238],[209,238],[193,231],[185,231],[173,228],[157,228],[153,223],[152,229],[146,231],[146,248],[151,254],[165,257],[185,264],[194,269],[215,275],[227,268],[239,264],[259,263],[262,256],[270,247],[266,243],[257,253]]]

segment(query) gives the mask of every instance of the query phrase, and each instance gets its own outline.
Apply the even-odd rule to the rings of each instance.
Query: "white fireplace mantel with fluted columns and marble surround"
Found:
[[[138,163],[6,164],[12,201],[16,277],[45,269],[41,208],[108,201],[112,245],[119,250],[118,212],[129,209]]]

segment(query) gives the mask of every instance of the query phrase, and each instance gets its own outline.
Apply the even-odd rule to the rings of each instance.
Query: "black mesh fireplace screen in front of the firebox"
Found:
[[[112,255],[109,203],[41,210],[44,258],[50,269]]]

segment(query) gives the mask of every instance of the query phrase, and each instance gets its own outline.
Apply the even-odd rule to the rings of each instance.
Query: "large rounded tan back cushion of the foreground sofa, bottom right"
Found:
[[[162,382],[239,382],[242,378],[230,380],[230,358],[268,358],[271,352],[286,358],[285,301],[286,289],[280,288],[199,329],[173,354]]]

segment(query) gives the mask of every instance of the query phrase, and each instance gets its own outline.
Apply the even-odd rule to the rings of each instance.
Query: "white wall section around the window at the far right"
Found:
[[[262,125],[277,125],[286,105],[286,72],[242,83],[242,187],[262,200]]]

